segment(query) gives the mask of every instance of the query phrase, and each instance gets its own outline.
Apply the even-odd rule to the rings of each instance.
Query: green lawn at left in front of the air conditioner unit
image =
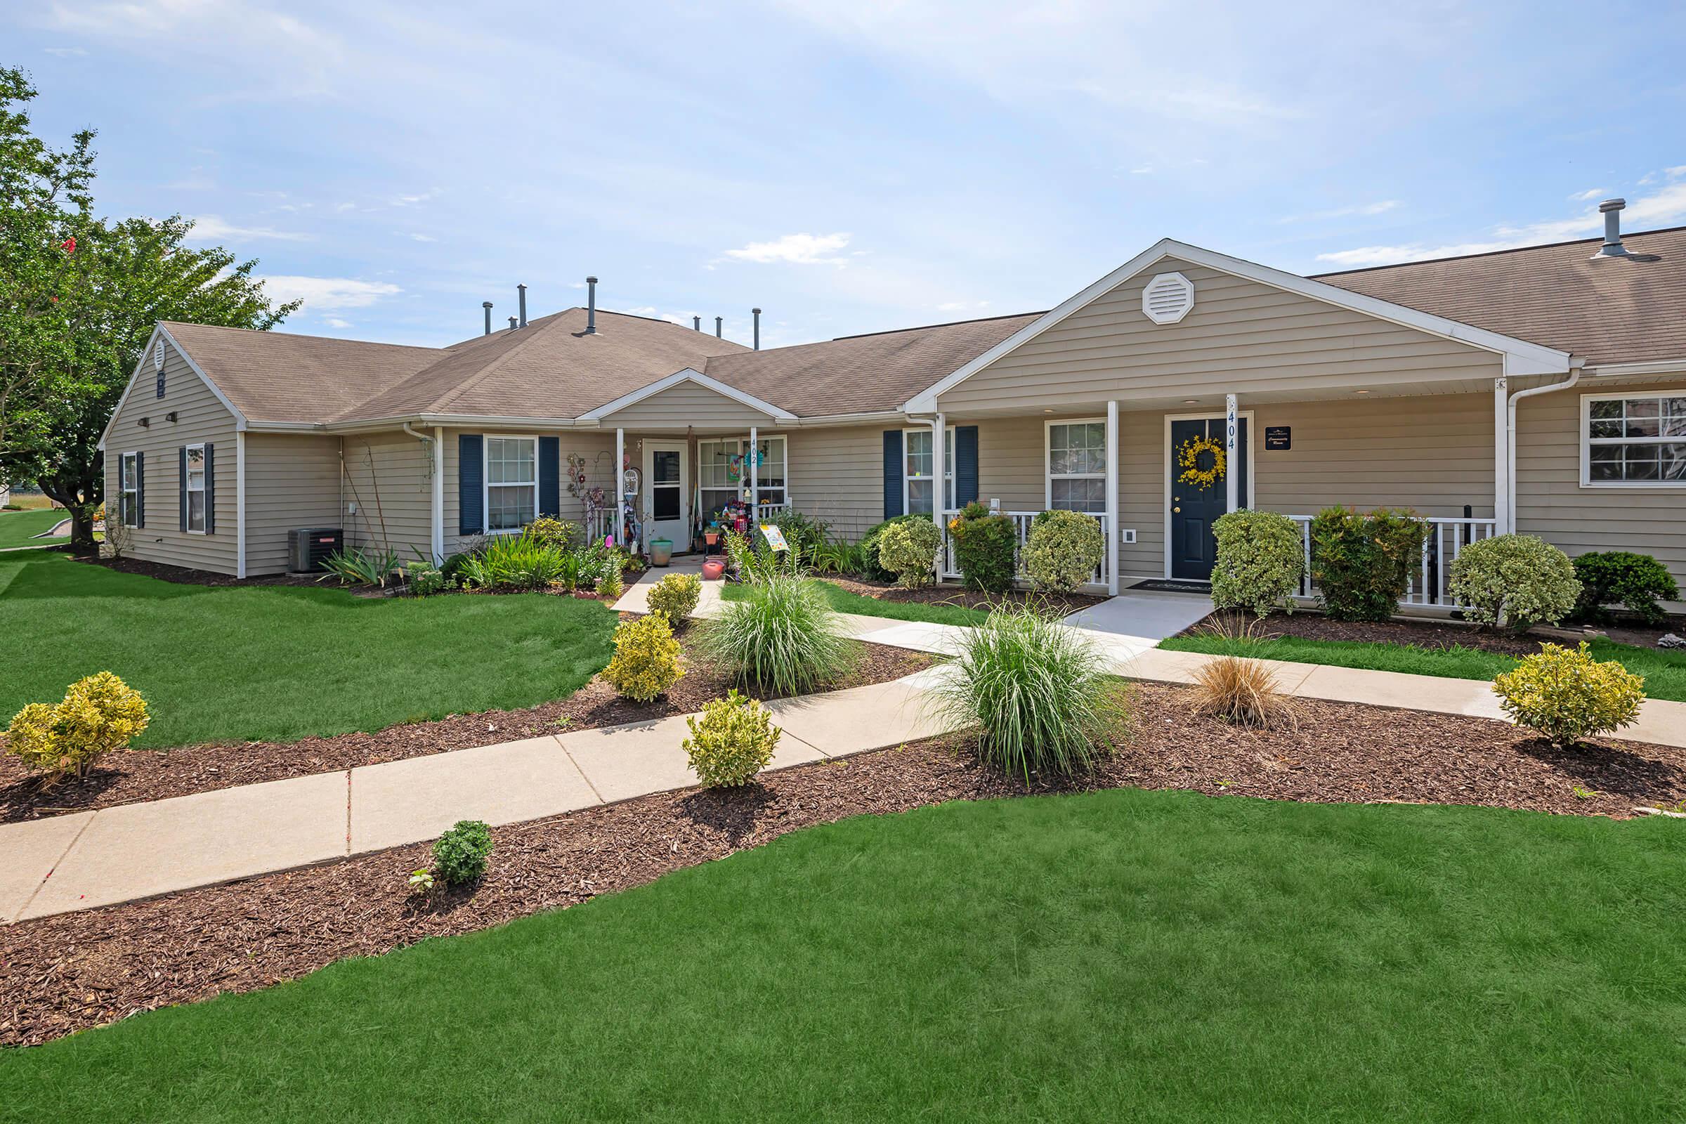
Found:
[[[0,521],[15,516],[0,516]],[[293,740],[565,698],[609,662],[615,613],[526,593],[368,600],[207,588],[52,551],[0,554],[0,723],[115,671],[152,708],[143,747]]]

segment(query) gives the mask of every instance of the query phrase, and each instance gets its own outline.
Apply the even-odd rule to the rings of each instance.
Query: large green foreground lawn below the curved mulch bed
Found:
[[[1138,790],[948,804],[8,1052],[0,1104],[20,1121],[1679,1119],[1683,861],[1673,821]]]

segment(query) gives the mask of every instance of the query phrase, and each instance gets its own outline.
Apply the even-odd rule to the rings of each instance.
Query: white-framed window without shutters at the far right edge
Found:
[[[1581,399],[1581,484],[1686,487],[1686,393]]]

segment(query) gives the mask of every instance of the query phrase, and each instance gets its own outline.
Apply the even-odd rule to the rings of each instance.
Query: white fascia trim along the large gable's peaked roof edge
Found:
[[[990,366],[1001,356],[1034,340],[1054,325],[1057,325],[1066,317],[1087,307],[1104,293],[1123,285],[1126,280],[1141,273],[1148,266],[1165,258],[1177,258],[1180,261],[1192,261],[1194,265],[1204,265],[1209,270],[1217,270],[1219,273],[1229,273],[1231,276],[1246,278],[1258,281],[1261,285],[1271,285],[1275,288],[1286,290],[1290,293],[1298,293],[1302,297],[1310,297],[1312,300],[1320,300],[1327,305],[1335,305],[1337,308],[1349,308],[1352,312],[1361,312],[1377,320],[1386,320],[1389,324],[1398,324],[1401,327],[1416,329],[1418,332],[1426,332],[1430,335],[1438,335],[1442,339],[1450,339],[1458,344],[1469,344],[1470,347],[1479,347],[1482,351],[1490,351],[1504,359],[1504,372],[1507,376],[1528,376],[1528,374],[1563,374],[1570,369],[1570,352],[1556,351],[1553,347],[1543,347],[1539,344],[1531,344],[1522,339],[1511,335],[1501,335],[1499,332],[1489,332],[1487,329],[1479,329],[1470,324],[1462,324],[1460,320],[1448,320],[1447,317],[1436,317],[1418,308],[1406,308],[1404,305],[1396,305],[1389,300],[1379,300],[1376,297],[1366,297],[1362,293],[1354,293],[1335,285],[1327,285],[1324,281],[1313,281],[1312,278],[1300,276],[1298,273],[1286,273],[1283,270],[1273,270],[1270,266],[1258,265],[1256,261],[1246,261],[1243,258],[1234,258],[1231,254],[1217,253],[1216,249],[1202,249],[1200,246],[1190,246],[1189,243],[1179,243],[1172,238],[1162,238],[1153,243],[1140,254],[1118,266],[1101,280],[1094,281],[1082,292],[1062,300],[1055,308],[1042,313],[1025,327],[1018,329],[1005,340],[983,352],[966,366],[959,367],[942,381],[936,383],[931,389],[926,389],[914,398],[902,403],[905,413],[932,413],[936,411],[937,394],[949,391],[973,374]]]

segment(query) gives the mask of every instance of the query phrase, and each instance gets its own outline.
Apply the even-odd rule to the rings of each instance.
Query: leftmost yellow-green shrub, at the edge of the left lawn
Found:
[[[147,728],[147,701],[110,671],[78,679],[56,706],[30,703],[7,728],[7,753],[32,768],[83,777]]]

